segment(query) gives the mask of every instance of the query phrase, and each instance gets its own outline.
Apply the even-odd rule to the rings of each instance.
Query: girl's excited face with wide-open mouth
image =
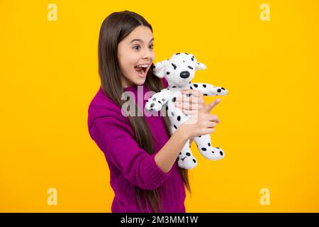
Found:
[[[153,34],[146,26],[136,27],[118,43],[118,62],[122,71],[122,87],[144,84],[155,59]],[[137,67],[140,65],[141,67]]]

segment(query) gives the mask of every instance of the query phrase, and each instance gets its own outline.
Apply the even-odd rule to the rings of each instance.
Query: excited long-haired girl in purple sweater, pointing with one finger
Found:
[[[91,138],[103,151],[114,191],[112,212],[185,212],[185,187],[191,192],[188,172],[177,165],[179,152],[189,138],[214,132],[218,117],[209,114],[220,99],[206,106],[203,95],[185,90],[198,99],[182,110],[197,114],[196,123],[184,123],[171,135],[168,116],[123,116],[123,92],[138,88],[159,92],[165,79],[153,74],[155,53],[152,26],[137,13],[111,13],[99,34],[101,87],[89,105]],[[141,70],[137,65],[145,65]],[[143,93],[143,94],[144,94]],[[141,98],[141,97],[140,97]],[[133,101],[143,109],[146,99]],[[187,122],[187,121],[186,121]]]

